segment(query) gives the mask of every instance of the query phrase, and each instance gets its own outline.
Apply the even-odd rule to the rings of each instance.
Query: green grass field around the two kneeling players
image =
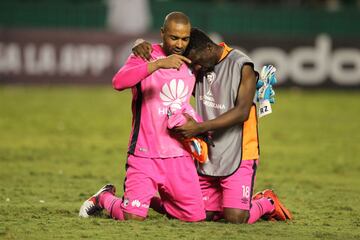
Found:
[[[278,90],[261,119],[255,190],[291,222],[80,219],[102,185],[122,194],[131,96],[111,87],[0,87],[0,239],[360,239],[360,92]]]

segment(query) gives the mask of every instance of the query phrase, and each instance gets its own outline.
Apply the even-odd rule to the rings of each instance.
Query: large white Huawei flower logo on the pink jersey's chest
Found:
[[[165,106],[169,106],[171,111],[181,108],[183,102],[189,93],[188,86],[185,86],[184,81],[173,79],[168,85],[165,83],[160,92],[160,98]]]

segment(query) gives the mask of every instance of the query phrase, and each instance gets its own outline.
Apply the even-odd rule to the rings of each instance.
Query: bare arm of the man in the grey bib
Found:
[[[174,131],[184,138],[190,138],[203,132],[216,131],[245,122],[249,118],[256,90],[256,75],[251,66],[245,65],[243,67],[241,78],[242,81],[234,108],[215,119],[202,123],[198,123],[189,115],[186,115],[187,123],[175,128]]]

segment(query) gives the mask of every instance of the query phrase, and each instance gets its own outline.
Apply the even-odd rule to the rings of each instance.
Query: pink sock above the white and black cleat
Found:
[[[107,210],[110,217],[117,220],[124,220],[124,213],[120,208],[121,203],[121,198],[109,192],[104,192],[99,196],[99,205]]]

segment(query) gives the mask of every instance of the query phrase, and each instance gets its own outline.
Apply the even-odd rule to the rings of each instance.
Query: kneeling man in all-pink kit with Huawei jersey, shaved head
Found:
[[[194,161],[167,128],[168,112],[189,103],[195,84],[186,65],[191,61],[182,56],[190,30],[186,15],[168,14],[161,29],[163,43],[152,45],[152,61],[132,54],[115,75],[114,88],[131,88],[133,95],[124,196],[116,197],[115,187],[105,185],[83,203],[81,217],[106,209],[117,220],[144,220],[158,192],[170,217],[189,222],[205,219]]]

